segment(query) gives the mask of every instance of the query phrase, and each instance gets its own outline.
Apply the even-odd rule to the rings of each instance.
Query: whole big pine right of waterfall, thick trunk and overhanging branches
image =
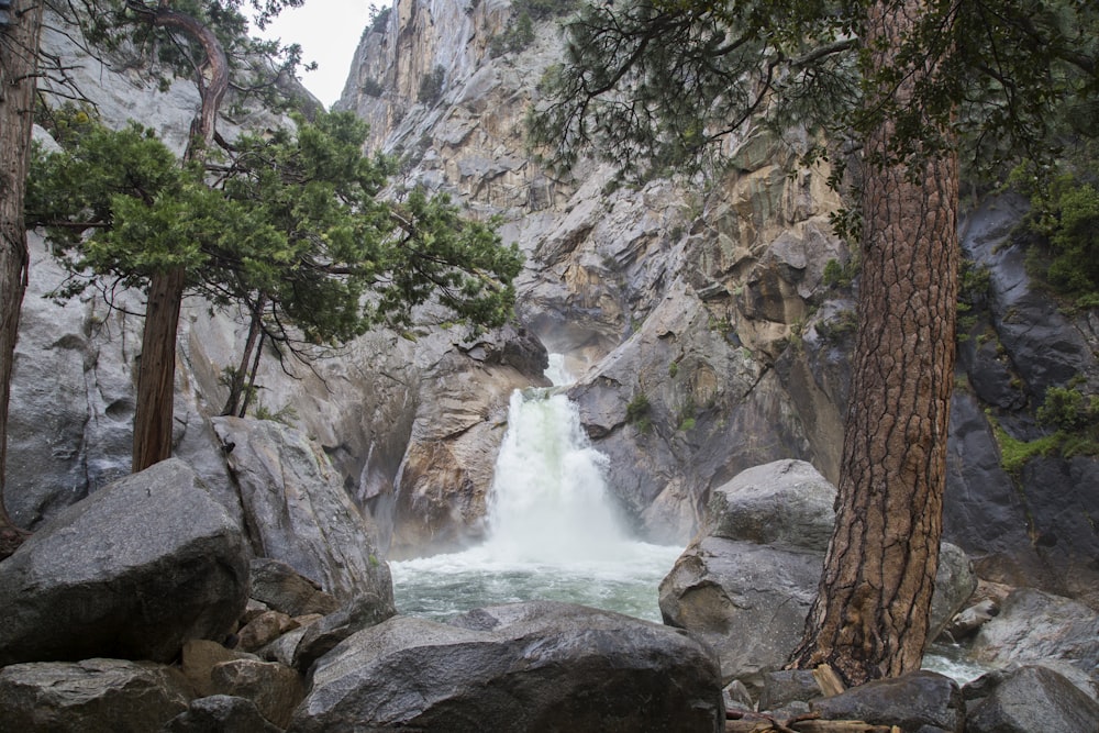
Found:
[[[1058,0],[633,0],[567,25],[532,118],[568,164],[698,159],[791,121],[857,164],[836,219],[862,246],[835,533],[791,664],[848,684],[919,668],[942,531],[954,366],[958,152],[1048,157],[1047,110],[1094,102],[1096,11]],[[1045,147],[1046,149],[1043,149]],[[831,155],[833,181],[845,158]],[[855,238],[855,237],[853,237]]]

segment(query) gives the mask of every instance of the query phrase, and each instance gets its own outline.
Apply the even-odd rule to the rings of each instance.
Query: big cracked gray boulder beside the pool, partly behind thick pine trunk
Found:
[[[702,531],[660,584],[665,623],[697,633],[725,681],[758,686],[801,638],[832,535],[835,488],[810,464],[778,460],[739,474],[710,497]],[[977,580],[944,545],[931,637]]]

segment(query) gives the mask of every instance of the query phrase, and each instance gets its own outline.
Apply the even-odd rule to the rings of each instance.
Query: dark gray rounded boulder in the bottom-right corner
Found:
[[[963,689],[966,733],[1094,733],[1099,703],[1047,667],[985,675]]]

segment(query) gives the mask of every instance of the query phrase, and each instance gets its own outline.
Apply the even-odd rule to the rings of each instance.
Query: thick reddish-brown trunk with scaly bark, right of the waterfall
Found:
[[[878,2],[874,69],[920,0]],[[921,73],[901,87],[903,103]],[[886,152],[886,123],[865,156]],[[957,301],[957,157],[869,164],[863,187],[858,335],[835,532],[793,666],[828,664],[848,685],[920,668],[942,535]],[[918,180],[913,180],[913,178]]]

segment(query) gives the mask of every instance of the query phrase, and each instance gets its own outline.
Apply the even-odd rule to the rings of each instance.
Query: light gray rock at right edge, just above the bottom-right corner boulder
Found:
[[[1068,598],[1020,588],[973,641],[975,659],[991,667],[1035,664],[1056,669],[1099,697],[1099,613]]]

